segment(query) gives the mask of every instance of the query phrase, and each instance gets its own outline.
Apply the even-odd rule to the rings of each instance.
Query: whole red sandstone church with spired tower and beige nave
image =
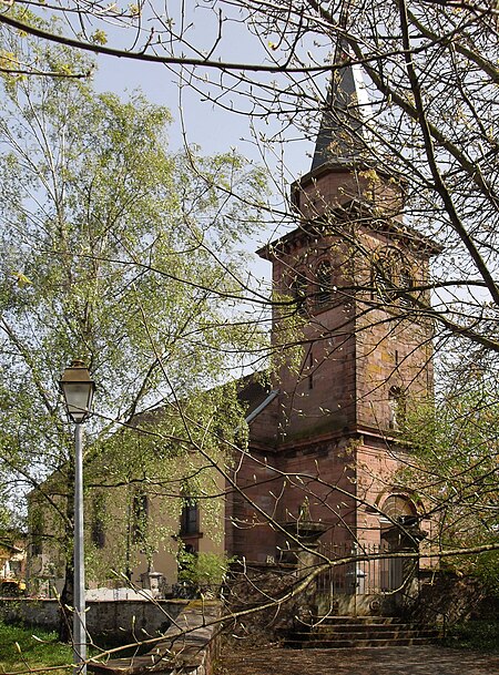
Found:
[[[123,575],[139,585],[152,571],[175,582],[179,542],[189,553],[261,566],[293,567],[303,546],[328,558],[425,555],[434,523],[400,480],[414,464],[400,428],[407,410],[432,397],[425,309],[439,248],[405,222],[404,180],[376,156],[361,76],[348,65],[329,88],[310,171],[291,186],[295,227],[258,252],[272,265],[275,367],[271,381],[240,382],[248,442],[234,451],[225,485],[215,481],[210,518],[218,535],[211,535],[206,501],[181,493],[177,523],[145,492],[131,492],[121,515],[118,498],[108,509],[109,531],[85,507],[95,561],[108,552],[116,565],[121,530]],[[163,550],[147,560],[141,532],[157,519]],[[63,556],[55,564],[33,532],[31,577],[62,583]],[[357,566],[354,592],[400,587],[398,561]]]

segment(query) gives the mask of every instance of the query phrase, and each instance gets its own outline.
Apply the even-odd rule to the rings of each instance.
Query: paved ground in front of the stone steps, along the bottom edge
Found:
[[[285,650],[226,645],[220,675],[499,675],[499,656],[440,646]]]

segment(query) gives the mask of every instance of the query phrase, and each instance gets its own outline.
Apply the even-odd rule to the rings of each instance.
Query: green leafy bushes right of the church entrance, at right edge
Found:
[[[400,474],[419,497],[437,528],[440,549],[498,545],[499,403],[490,382],[473,378],[466,390],[436,406],[408,410],[408,466]],[[498,589],[498,551],[442,561]]]

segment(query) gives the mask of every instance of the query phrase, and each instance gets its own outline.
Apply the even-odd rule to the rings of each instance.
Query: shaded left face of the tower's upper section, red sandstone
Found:
[[[342,430],[355,422],[355,338],[353,335],[353,304],[339,292],[333,294],[326,307],[317,307],[313,276],[324,259],[333,265],[333,284],[344,288],[349,274],[347,248],[338,237],[325,236],[317,246],[308,236],[297,235],[273,260],[274,287],[281,294],[289,293],[296,269],[303,275],[309,272],[310,283],[306,311],[301,317],[303,328],[289,336],[282,333],[283,315],[289,317],[296,306],[277,308],[274,314],[274,345],[289,339],[301,347],[285,349],[285,365],[278,372],[282,389],[281,441],[289,443],[309,436],[320,436]],[[305,254],[306,252],[306,254]],[[318,257],[317,257],[318,256]],[[318,310],[319,309],[319,310]],[[296,351],[299,350],[298,357]],[[288,361],[295,360],[294,367]]]

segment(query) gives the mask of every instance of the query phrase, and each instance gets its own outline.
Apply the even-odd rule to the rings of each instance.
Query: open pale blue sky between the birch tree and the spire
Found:
[[[180,35],[173,47],[170,43],[166,44],[165,52],[172,50],[176,55],[186,54],[195,58],[210,53],[211,60],[221,59],[233,63],[267,64],[274,57],[278,59],[287,53],[286,51],[281,52],[278,47],[275,48],[275,51],[273,51],[274,47],[268,48],[268,44],[273,44],[273,41],[278,42],[278,37],[274,35],[272,25],[269,32],[263,33],[264,29],[261,25],[253,24],[247,16],[243,17],[237,8],[232,7],[230,2],[221,2],[213,6],[215,8],[213,9],[212,2],[190,3],[184,2],[184,0],[172,0],[164,4],[156,4],[157,11],[162,10],[163,13],[153,17],[152,13],[156,11],[154,6],[154,1],[150,6],[146,3],[142,6],[141,25],[144,31],[154,25],[156,28],[154,34],[157,38],[161,25],[171,20],[172,34]],[[151,14],[149,21],[147,12]],[[167,12],[170,13],[167,14]],[[221,12],[221,14],[217,12]],[[218,20],[222,14],[224,21],[220,23]],[[108,27],[106,30],[109,45],[130,49],[134,37],[133,30],[124,31],[112,27]],[[147,33],[145,32],[145,34]],[[140,38],[134,51],[140,50],[144,40],[144,37]],[[306,47],[302,44],[299,49],[304,52]],[[161,49],[159,53],[161,53]],[[323,52],[319,51],[318,53]],[[124,95],[126,90],[133,91],[140,88],[151,102],[166,105],[170,109],[174,119],[169,130],[172,150],[181,149],[184,143],[197,144],[203,154],[223,153],[236,149],[248,160],[268,165],[272,180],[276,183],[276,186],[271,187],[271,190],[276,194],[279,190],[281,192],[288,192],[289,184],[298,175],[309,171],[313,143],[296,142],[297,134],[293,127],[287,131],[289,137],[292,134],[295,137],[293,143],[281,144],[276,142],[272,151],[264,151],[262,150],[263,145],[255,143],[255,137],[252,137],[251,117],[223,110],[223,105],[249,110],[253,105],[251,96],[238,96],[230,92],[224,95],[222,105],[215,105],[212,101],[206,100],[206,95],[194,91],[192,88],[181,88],[179,85],[179,70],[174,72],[162,64],[103,55],[98,58],[98,65],[99,71],[94,80],[98,90],[111,90]],[[203,69],[197,69],[196,72],[212,82],[217,82],[221,76],[214,70],[205,69],[203,71]],[[265,83],[277,79],[275,74],[258,73],[255,76]],[[231,74],[224,74],[223,78],[226,86],[230,88],[234,84]],[[281,84],[284,88],[288,86],[288,82]],[[202,83],[201,88],[204,94],[206,92],[214,96],[220,94],[220,90],[214,85]],[[253,130],[253,134],[265,134],[272,137],[281,131],[282,122],[275,119],[265,119],[259,122],[256,132]],[[283,153],[284,170],[279,165]],[[275,238],[275,233],[272,231],[265,233],[256,242],[254,248],[261,247],[268,241],[268,237]]]

